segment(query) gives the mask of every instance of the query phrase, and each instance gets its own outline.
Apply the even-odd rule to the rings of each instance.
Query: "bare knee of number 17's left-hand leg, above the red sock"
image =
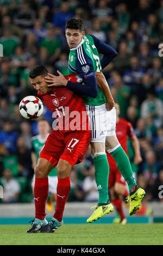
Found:
[[[46,178],[53,168],[53,165],[47,159],[39,158],[34,170],[35,178]]]

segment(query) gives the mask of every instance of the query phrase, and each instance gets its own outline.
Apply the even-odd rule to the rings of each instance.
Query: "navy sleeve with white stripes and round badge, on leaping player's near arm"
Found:
[[[93,68],[93,62],[91,58],[85,53],[83,45],[77,48],[76,69],[80,77],[82,77],[84,84],[80,85],[68,81],[67,87],[73,90],[74,93],[82,93],[82,95],[85,96],[96,97],[98,88],[95,70]]]

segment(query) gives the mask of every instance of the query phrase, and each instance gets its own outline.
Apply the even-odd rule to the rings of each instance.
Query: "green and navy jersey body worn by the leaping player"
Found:
[[[80,42],[76,48],[70,49],[68,68],[70,74],[82,74],[83,76],[91,76],[91,73],[87,74],[90,65],[93,65],[93,71],[102,72],[101,60],[99,58],[99,54],[93,38],[91,35],[85,35],[82,42]],[[99,106],[106,103],[106,98],[99,87],[96,98],[83,96],[83,99],[85,105]]]

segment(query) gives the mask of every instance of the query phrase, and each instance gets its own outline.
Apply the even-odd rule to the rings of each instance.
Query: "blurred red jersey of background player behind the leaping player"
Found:
[[[128,137],[131,138],[133,135],[135,135],[135,133],[134,133],[134,129],[133,129],[133,126],[131,125],[131,123],[120,118],[120,120],[116,124],[116,136],[127,155],[128,155],[127,138]],[[110,166],[111,166],[111,164],[116,165],[115,160],[113,159],[113,157],[110,154],[107,154],[107,157],[108,157],[108,162],[109,162]]]

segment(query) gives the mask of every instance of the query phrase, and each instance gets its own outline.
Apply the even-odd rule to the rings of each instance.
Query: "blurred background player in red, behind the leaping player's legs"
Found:
[[[119,117],[120,115],[120,106],[118,103],[115,104],[116,108],[116,136],[118,141],[120,142],[122,148],[128,155],[127,151],[127,138],[131,139],[131,143],[134,148],[134,162],[135,164],[139,164],[142,161],[142,157],[140,154],[140,145],[139,140],[137,139],[133,126],[128,121]],[[120,215],[120,219],[117,220],[118,223],[126,224],[126,216],[124,215],[123,208],[122,208],[122,196],[127,197],[128,192],[126,190],[126,180],[124,180],[123,176],[121,175],[120,171],[116,166],[116,162],[113,157],[106,151],[106,155],[109,162],[109,182],[108,188],[110,189],[110,196],[111,202],[115,205],[115,208]]]

